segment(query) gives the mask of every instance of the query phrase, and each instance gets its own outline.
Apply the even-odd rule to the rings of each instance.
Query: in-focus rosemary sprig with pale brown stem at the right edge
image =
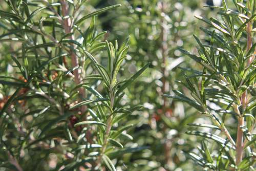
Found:
[[[174,91],[175,95],[165,97],[186,102],[203,117],[210,117],[211,124],[205,120],[190,123],[199,130],[187,132],[203,137],[200,154],[189,155],[205,170],[254,170],[256,2],[233,1],[234,10],[224,0],[222,4],[211,6],[219,10],[218,18],[196,16],[210,27],[201,28],[208,35],[205,44],[195,36],[198,54],[180,49],[202,66],[201,71],[184,68],[184,81],[179,82],[190,95]],[[230,124],[232,120],[236,125]]]

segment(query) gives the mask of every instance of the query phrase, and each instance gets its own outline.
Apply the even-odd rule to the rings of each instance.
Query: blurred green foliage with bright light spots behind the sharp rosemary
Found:
[[[54,2],[54,1],[52,1]],[[4,1],[0,1],[0,6]],[[151,62],[151,66],[137,79],[129,89],[121,103],[142,105],[142,111],[136,111],[121,122],[134,124],[129,134],[133,141],[128,146],[143,147],[142,151],[125,154],[118,159],[118,170],[201,170],[187,153],[197,146],[195,136],[185,134],[187,123],[200,119],[199,113],[188,105],[165,99],[163,94],[172,94],[173,89],[188,91],[176,81],[183,79],[182,71],[186,68],[200,70],[200,66],[185,57],[177,48],[181,47],[196,53],[196,43],[193,34],[204,39],[204,32],[200,30],[204,24],[194,15],[217,17],[217,11],[203,8],[207,5],[221,6],[221,0],[93,0],[87,1],[84,11],[94,11],[109,5],[121,4],[120,8],[102,13],[97,17],[96,29],[108,31],[105,39],[122,42],[131,36],[130,50],[120,77],[127,78],[138,68]],[[82,13],[81,13],[82,15]],[[87,21],[88,25],[90,20]],[[0,33],[3,31],[0,28]],[[0,44],[0,72],[10,71],[8,65],[11,58],[6,58],[4,52],[15,47]],[[6,102],[8,90],[0,92],[0,109]],[[18,140],[12,128],[9,134],[13,146]],[[123,142],[124,143],[124,142]],[[41,150],[41,149],[40,149]],[[56,151],[56,154],[58,151]],[[33,159],[39,160],[40,170],[54,170],[59,162],[53,152],[47,152],[43,159],[38,153],[31,153]],[[6,158],[1,156],[0,160]],[[51,165],[52,164],[52,165]],[[0,166],[0,170],[1,166]],[[3,169],[4,170],[4,169]],[[38,170],[38,168],[36,169]]]

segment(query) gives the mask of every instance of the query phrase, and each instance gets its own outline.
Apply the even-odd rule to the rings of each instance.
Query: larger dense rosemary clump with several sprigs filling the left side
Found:
[[[117,141],[132,139],[131,125],[119,121],[138,109],[119,102],[148,65],[119,81],[129,38],[119,49],[117,41],[102,42],[106,32],[98,33],[95,23],[96,15],[120,5],[92,11],[84,0],[52,2],[1,2],[8,72],[0,77],[0,167],[116,170],[112,159],[143,149]]]

